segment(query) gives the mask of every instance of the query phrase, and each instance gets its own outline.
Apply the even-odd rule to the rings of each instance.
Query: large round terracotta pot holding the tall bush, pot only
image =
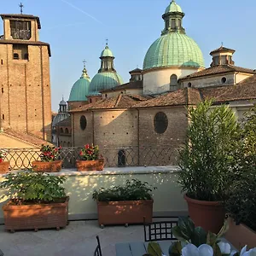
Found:
[[[218,201],[199,201],[184,195],[188,203],[189,217],[195,226],[201,226],[204,230],[218,234],[224,224],[224,207]]]

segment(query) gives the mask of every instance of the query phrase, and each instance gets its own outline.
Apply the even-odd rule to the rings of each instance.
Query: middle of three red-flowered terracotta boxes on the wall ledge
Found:
[[[62,160],[58,160],[61,147],[44,145],[40,148],[40,161],[32,161],[32,170],[34,172],[60,172]]]

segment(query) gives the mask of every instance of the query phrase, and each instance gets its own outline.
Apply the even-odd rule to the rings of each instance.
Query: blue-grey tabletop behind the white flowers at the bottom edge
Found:
[[[222,241],[229,242],[225,238],[222,238]],[[136,241],[136,242],[125,242],[125,243],[117,243],[115,245],[116,256],[143,256],[143,254],[147,253],[149,241]],[[171,246],[173,241],[157,241],[160,245],[162,253],[166,256],[169,255],[169,247]],[[231,250],[236,250],[231,244]]]

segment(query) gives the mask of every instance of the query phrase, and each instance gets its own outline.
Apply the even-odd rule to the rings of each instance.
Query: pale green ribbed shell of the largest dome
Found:
[[[153,67],[204,67],[201,49],[192,38],[186,34],[167,33],[148,49],[144,58],[143,69]]]

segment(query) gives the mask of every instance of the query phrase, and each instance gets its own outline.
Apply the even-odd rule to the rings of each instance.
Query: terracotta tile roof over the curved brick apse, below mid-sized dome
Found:
[[[118,96],[114,96],[112,98],[106,98],[99,102],[90,103],[79,108],[72,109],[69,111],[69,113],[92,109],[131,108],[135,106],[137,102],[143,102],[147,100],[147,96],[119,94]]]

